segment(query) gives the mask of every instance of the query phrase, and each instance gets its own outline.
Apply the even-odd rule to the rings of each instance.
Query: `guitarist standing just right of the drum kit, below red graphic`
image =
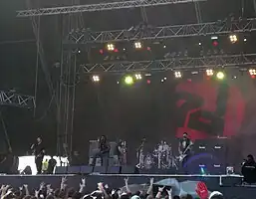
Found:
[[[179,160],[181,162],[182,167],[184,167],[185,162],[189,159],[191,155],[191,146],[193,142],[189,139],[188,134],[186,132],[183,133],[183,137],[179,140],[178,143],[178,152],[179,152]]]

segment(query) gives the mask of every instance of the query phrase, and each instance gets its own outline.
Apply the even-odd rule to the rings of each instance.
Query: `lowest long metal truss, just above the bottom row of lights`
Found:
[[[160,72],[167,70],[189,70],[215,67],[236,68],[256,64],[256,54],[211,56],[201,58],[172,58],[167,60],[119,62],[83,65],[84,73],[128,73],[134,71]]]

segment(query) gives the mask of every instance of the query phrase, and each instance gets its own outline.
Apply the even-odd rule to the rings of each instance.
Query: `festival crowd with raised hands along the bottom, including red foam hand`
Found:
[[[86,179],[82,179],[79,189],[68,187],[66,177],[62,177],[60,187],[53,189],[50,184],[46,185],[42,182],[37,190],[31,192],[28,185],[14,188],[10,185],[1,186],[1,199],[193,199],[189,194],[178,195],[174,187],[157,187],[153,194],[153,178],[146,189],[139,185],[128,185],[128,178],[125,179],[125,186],[122,188],[111,188],[108,184],[99,182],[98,189],[92,193],[86,192]],[[210,193],[203,182],[198,182],[195,192],[198,199],[223,199],[223,195],[219,192]]]

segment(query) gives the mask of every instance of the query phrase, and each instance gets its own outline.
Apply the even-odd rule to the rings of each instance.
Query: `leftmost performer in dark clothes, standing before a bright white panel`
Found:
[[[33,150],[33,154],[35,155],[35,163],[37,166],[37,174],[42,173],[42,164],[45,156],[45,148],[43,146],[42,138],[38,137],[37,142],[32,144],[31,149]]]

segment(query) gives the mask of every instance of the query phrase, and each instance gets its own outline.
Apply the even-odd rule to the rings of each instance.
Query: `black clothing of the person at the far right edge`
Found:
[[[244,181],[247,183],[256,183],[256,162],[246,161],[242,166]]]

